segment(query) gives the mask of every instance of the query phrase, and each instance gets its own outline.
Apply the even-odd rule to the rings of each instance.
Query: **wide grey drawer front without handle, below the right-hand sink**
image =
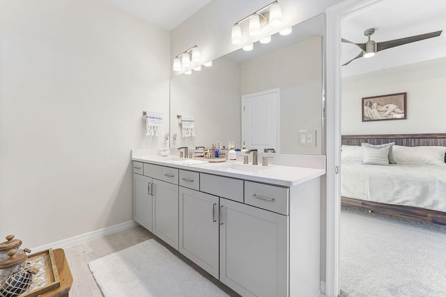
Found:
[[[243,203],[243,181],[200,173],[200,191]]]

